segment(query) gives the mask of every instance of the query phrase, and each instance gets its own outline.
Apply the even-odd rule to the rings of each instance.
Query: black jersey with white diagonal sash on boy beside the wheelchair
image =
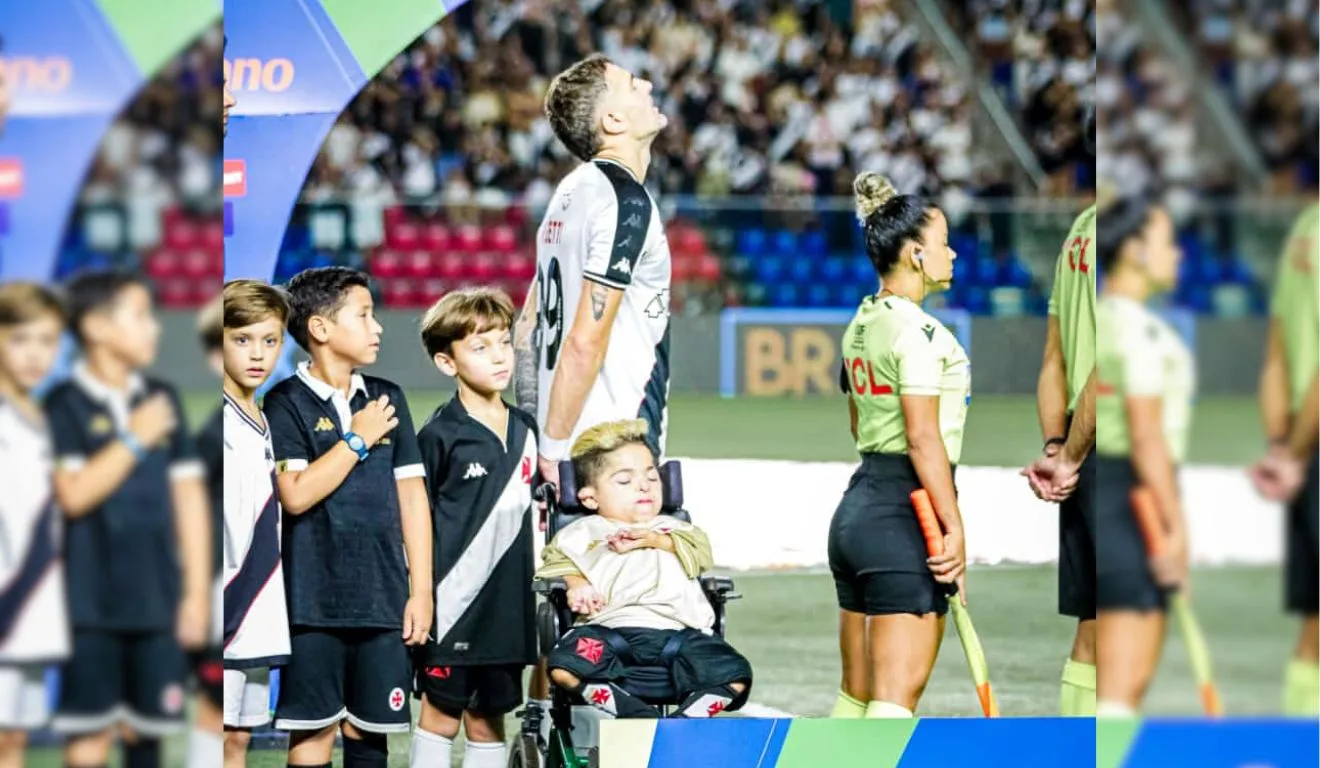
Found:
[[[532,664],[536,425],[508,409],[506,434],[455,396],[417,435],[434,528],[436,624],[428,664]]]

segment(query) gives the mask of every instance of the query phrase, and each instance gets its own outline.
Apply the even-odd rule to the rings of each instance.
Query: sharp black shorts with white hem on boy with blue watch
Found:
[[[408,730],[413,670],[399,629],[294,627],[290,640],[276,728],[318,731],[347,719],[372,734]]]

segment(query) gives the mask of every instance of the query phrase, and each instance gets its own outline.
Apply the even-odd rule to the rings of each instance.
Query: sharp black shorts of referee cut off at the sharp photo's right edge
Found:
[[[1096,449],[1081,463],[1077,488],[1059,504],[1059,612],[1096,618]]]

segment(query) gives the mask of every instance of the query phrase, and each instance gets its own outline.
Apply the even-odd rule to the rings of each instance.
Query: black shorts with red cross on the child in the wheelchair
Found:
[[[663,666],[665,645],[681,635],[673,662],[668,665],[671,684],[678,701],[711,688],[742,682],[747,689],[738,695],[729,711],[742,706],[751,690],[751,664],[718,635],[697,629],[647,629],[619,627],[612,629],[627,644],[631,664],[619,657],[607,629],[594,624],[574,627],[560,639],[546,657],[549,669],[562,669],[583,682],[614,682],[626,689],[628,670],[636,666]]]

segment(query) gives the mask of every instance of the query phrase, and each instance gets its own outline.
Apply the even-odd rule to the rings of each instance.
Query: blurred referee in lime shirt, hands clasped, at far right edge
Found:
[[[1270,339],[1261,369],[1261,414],[1270,451],[1251,470],[1255,487],[1288,504],[1284,603],[1302,614],[1302,633],[1284,678],[1283,710],[1320,713],[1320,454],[1316,453],[1320,347],[1320,205],[1298,218],[1270,302]]]

